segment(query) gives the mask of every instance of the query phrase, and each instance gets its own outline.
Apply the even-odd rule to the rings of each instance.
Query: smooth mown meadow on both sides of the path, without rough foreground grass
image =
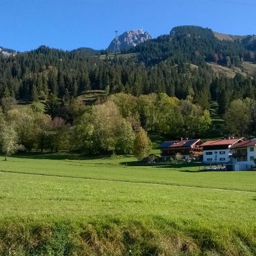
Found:
[[[182,182],[182,179],[193,179],[191,173],[188,172],[181,172],[182,175],[180,175],[179,170],[173,169],[168,170],[168,172],[171,172],[171,175],[168,175],[167,171],[158,172],[157,169],[154,169],[154,172],[157,172],[157,175],[154,175],[147,167],[144,167],[144,170],[139,168],[129,170],[131,167],[122,170],[112,166],[95,168],[89,164],[87,166],[84,164],[68,174],[66,162],[61,164],[61,161],[57,161],[59,166],[63,167],[63,170],[56,172],[54,170],[56,163],[51,163],[51,160],[39,161],[39,163],[36,161],[31,162],[34,165],[34,170],[30,172],[39,173],[36,170],[38,165],[44,170],[43,173],[49,173],[50,175],[63,173],[63,177],[2,172],[0,199],[2,205],[0,216],[2,218],[7,216],[79,218],[84,216],[83,213],[86,213],[84,217],[111,215],[124,219],[126,217],[132,218],[136,214],[137,220],[147,218],[147,216],[171,216],[174,219],[184,218],[191,221],[200,221],[203,217],[204,221],[214,220],[214,222],[220,224],[254,221],[255,212],[252,209],[255,207],[256,193],[160,186],[136,182],[136,180],[138,182],[154,181],[165,184],[167,182],[172,183],[171,180],[179,180],[177,184],[180,185],[195,185],[193,182]],[[8,163],[13,164],[13,162]],[[105,164],[103,163],[103,165]],[[70,168],[70,166],[68,167]],[[6,165],[2,168],[4,170],[10,169]],[[102,180],[74,178],[80,176],[96,177],[98,179],[99,172]],[[130,180],[133,183],[114,181],[122,180],[120,174],[125,176],[124,180]],[[223,178],[222,173],[195,172],[193,174],[197,177],[199,186],[203,186],[203,180],[205,180],[205,187],[209,186],[207,186],[207,183],[210,180],[218,180],[219,182],[216,182],[215,188],[231,189],[228,184],[223,185],[222,179],[228,179],[228,177]],[[248,181],[255,184],[253,180],[255,181],[256,176],[254,174],[256,173],[245,173],[246,179],[240,176],[242,178],[240,182],[244,181],[243,185],[234,184],[235,179],[232,178],[234,178],[235,172],[228,174],[230,174],[228,180],[233,183],[234,189],[243,188],[245,191],[249,191],[251,189],[246,188],[246,181],[247,184],[249,184]],[[64,177],[66,175],[69,175],[69,177]],[[138,178],[134,179],[134,176]],[[143,176],[144,179],[142,179]],[[167,182],[163,181],[161,176],[164,176]],[[204,179],[202,179],[202,176]],[[236,177],[236,180],[240,177]],[[105,179],[113,181],[106,181]],[[213,187],[213,185],[211,186]],[[213,212],[214,216],[212,216]],[[246,214],[244,214],[245,212]]]

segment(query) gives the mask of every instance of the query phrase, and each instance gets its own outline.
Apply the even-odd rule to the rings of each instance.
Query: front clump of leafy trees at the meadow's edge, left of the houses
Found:
[[[130,124],[111,100],[85,106],[78,98],[68,106],[72,124],[59,116],[40,111],[0,108],[0,146],[6,158],[17,150],[79,152],[85,154],[131,154],[138,159],[148,155],[151,143],[141,126]]]

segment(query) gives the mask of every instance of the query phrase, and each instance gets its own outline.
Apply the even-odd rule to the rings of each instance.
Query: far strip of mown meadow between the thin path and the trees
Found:
[[[30,154],[2,161],[0,171],[256,192],[256,172],[199,172],[201,165],[173,163],[137,166],[136,159],[130,156],[111,158]]]

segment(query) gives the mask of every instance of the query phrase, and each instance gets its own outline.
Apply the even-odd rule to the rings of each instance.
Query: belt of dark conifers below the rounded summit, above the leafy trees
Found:
[[[204,109],[209,109],[211,100],[217,100],[222,115],[234,99],[255,99],[256,81],[239,74],[234,79],[216,75],[207,65],[191,68],[182,57],[176,60],[170,57],[149,67],[132,57],[116,56],[109,61],[83,52],[47,47],[9,58],[0,56],[3,111],[15,100],[46,100],[53,94],[68,102],[90,89],[135,96],[151,93],[166,93],[178,99],[189,96]]]

